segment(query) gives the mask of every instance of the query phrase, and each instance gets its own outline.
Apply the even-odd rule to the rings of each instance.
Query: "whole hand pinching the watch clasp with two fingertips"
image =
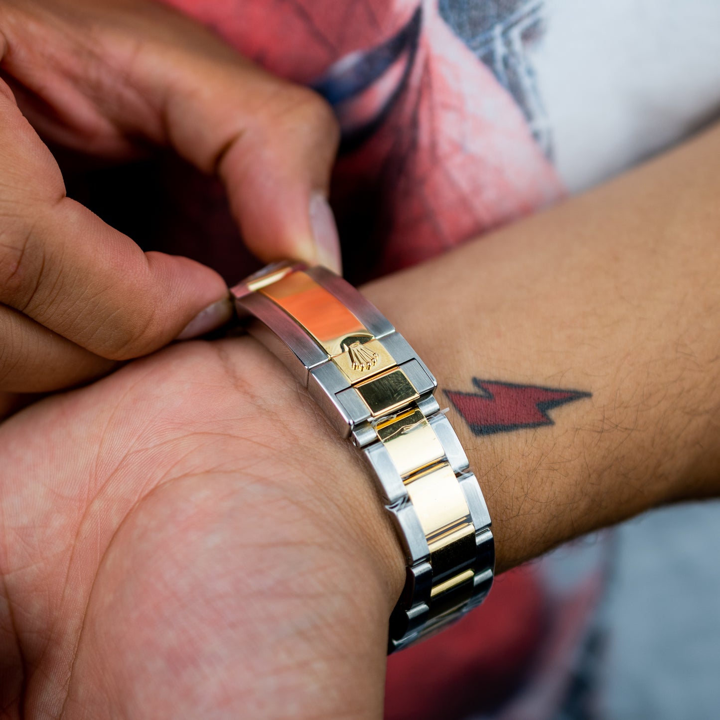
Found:
[[[318,96],[150,0],[6,0],[0,392],[76,384],[230,315],[220,275],[143,253],[66,197],[40,136],[113,160],[169,146],[220,175],[259,258],[339,265],[324,199],[337,130]]]

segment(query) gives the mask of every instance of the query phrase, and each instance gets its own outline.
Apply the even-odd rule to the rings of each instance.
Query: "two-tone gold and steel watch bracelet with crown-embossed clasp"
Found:
[[[408,563],[389,652],[485,599],[495,544],[437,382],[400,333],[323,267],[276,264],[233,288],[240,320],[368,460]]]

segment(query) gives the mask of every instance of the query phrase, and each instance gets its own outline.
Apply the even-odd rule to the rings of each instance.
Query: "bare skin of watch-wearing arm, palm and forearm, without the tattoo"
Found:
[[[719,150],[715,130],[364,289],[441,388],[593,394],[516,433],[451,411],[500,572],[717,494]],[[251,338],[37,402],[0,446],[4,716],[382,716],[397,541],[354,450]]]

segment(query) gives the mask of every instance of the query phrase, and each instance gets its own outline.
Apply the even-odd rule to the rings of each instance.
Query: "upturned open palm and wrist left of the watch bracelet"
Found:
[[[192,343],[0,426],[10,717],[379,716],[388,531],[300,395]]]

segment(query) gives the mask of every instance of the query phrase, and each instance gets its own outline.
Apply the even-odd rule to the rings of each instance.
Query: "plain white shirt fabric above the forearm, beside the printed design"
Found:
[[[529,52],[571,191],[720,113],[719,0],[548,0],[543,14]]]

